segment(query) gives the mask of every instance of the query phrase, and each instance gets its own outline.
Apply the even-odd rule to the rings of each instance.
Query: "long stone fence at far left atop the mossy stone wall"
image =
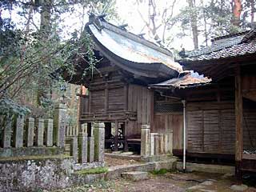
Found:
[[[24,118],[21,115],[2,119],[5,123],[1,127],[0,157],[40,155],[46,151],[42,148],[64,148],[66,106],[62,104],[55,107],[54,119]]]

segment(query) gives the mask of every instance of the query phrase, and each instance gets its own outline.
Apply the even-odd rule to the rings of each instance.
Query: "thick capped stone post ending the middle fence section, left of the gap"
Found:
[[[94,160],[104,162],[105,125],[94,123]]]

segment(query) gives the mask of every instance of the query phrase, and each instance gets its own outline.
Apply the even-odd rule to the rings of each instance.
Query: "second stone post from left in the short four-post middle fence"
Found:
[[[78,134],[78,162],[85,163],[87,162],[87,133]]]

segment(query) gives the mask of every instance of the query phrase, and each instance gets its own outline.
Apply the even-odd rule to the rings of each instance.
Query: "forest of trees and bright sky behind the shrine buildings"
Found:
[[[52,118],[65,102],[76,125],[81,86],[54,71],[74,73],[74,55],[98,61],[84,33],[88,14],[106,14],[115,25],[178,55],[209,46],[212,38],[251,30],[256,0],[2,0],[0,2],[0,115]],[[136,21],[136,22],[134,22]],[[58,77],[56,77],[56,75]]]

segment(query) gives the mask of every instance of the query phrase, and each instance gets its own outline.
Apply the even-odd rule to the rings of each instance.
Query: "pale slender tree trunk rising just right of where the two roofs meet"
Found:
[[[189,6],[191,7],[191,30],[193,34],[194,49],[198,49],[198,18],[194,11],[195,0],[188,0]]]

